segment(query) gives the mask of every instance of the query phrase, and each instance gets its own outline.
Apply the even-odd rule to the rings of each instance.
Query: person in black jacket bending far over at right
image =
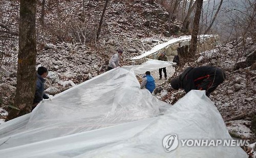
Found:
[[[170,81],[174,89],[183,88],[186,93],[191,89],[205,90],[209,97],[219,84],[226,79],[225,73],[214,66],[188,67],[178,77]]]

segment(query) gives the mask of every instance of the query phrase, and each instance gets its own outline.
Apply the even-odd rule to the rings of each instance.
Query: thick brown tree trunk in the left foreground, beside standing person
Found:
[[[17,86],[14,105],[6,121],[31,112],[35,94],[36,0],[20,0]]]

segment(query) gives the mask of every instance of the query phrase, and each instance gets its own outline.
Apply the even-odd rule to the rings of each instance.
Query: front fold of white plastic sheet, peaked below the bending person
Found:
[[[177,134],[178,147],[166,152],[162,141]],[[231,139],[214,103],[203,91],[190,91],[164,115],[57,139],[0,150],[7,157],[248,157],[240,147],[182,146],[183,139]]]

